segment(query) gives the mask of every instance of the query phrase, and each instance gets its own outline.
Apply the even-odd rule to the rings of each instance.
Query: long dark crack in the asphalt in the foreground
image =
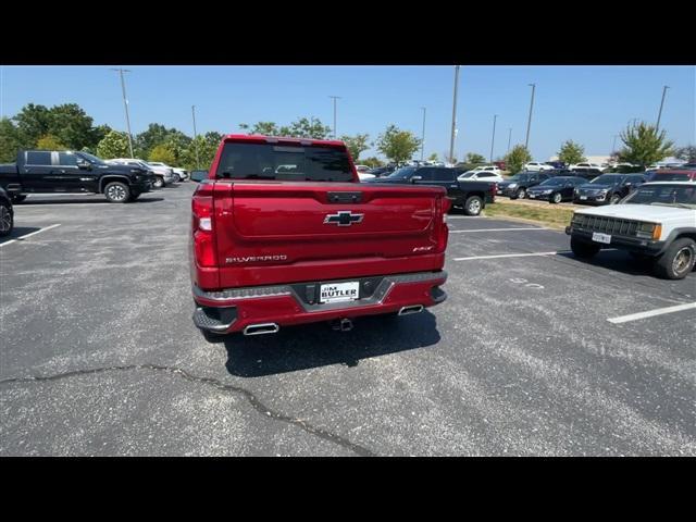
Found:
[[[192,375],[192,374],[188,373],[186,370],[182,370],[179,368],[160,366],[160,365],[156,365],[156,364],[132,364],[132,365],[127,365],[127,366],[95,368],[95,369],[90,369],[90,370],[74,370],[72,372],[58,373],[58,374],[54,374],[54,375],[36,375],[36,376],[29,376],[29,377],[5,378],[5,380],[0,381],[0,385],[16,384],[16,383],[33,383],[33,382],[42,382],[42,381],[59,381],[59,380],[74,377],[74,376],[78,376],[78,375],[94,375],[94,374],[107,373],[107,372],[127,372],[127,371],[133,371],[133,370],[151,370],[151,371],[157,371],[157,372],[171,373],[171,374],[178,375],[178,376],[181,376],[181,377],[183,377],[186,381],[189,381],[191,383],[198,383],[198,384],[204,384],[204,385],[208,385],[208,386],[213,386],[213,387],[215,387],[215,388],[217,388],[217,389],[220,389],[222,391],[240,394],[244,397],[246,397],[246,399],[249,401],[249,403],[259,413],[265,414],[265,415],[270,417],[273,420],[281,421],[281,422],[286,422],[288,424],[293,424],[295,426],[298,426],[298,427],[300,427],[301,430],[303,430],[307,433],[310,433],[310,434],[315,435],[315,436],[318,436],[320,438],[323,438],[324,440],[328,440],[330,443],[337,444],[338,446],[347,448],[347,449],[353,451],[355,453],[357,453],[357,455],[359,455],[361,457],[376,457],[376,453],[372,452],[368,448],[364,448],[364,447],[362,447],[362,446],[360,446],[358,444],[351,443],[350,440],[348,440],[348,439],[346,439],[346,438],[344,438],[344,437],[341,437],[339,435],[331,433],[331,432],[328,432],[326,430],[322,430],[321,427],[312,426],[311,424],[302,421],[301,419],[295,419],[295,418],[285,415],[283,413],[279,413],[277,411],[271,410],[263,402],[261,402],[261,400],[259,400],[256,395],[253,395],[248,389],[245,389],[245,388],[243,388],[240,386],[233,386],[231,384],[224,384],[224,383],[217,381],[216,378],[201,377],[201,376],[198,376],[198,375]]]

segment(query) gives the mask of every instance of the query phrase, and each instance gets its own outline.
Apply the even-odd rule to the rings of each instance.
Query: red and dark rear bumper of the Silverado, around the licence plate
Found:
[[[447,281],[444,271],[356,277],[350,281],[360,282],[361,288],[364,285],[374,285],[374,288],[369,296],[355,301],[322,304],[314,301],[314,293],[320,284],[331,281],[220,291],[206,291],[194,285],[194,300],[197,303],[194,323],[201,330],[227,334],[240,332],[252,324],[288,326],[398,312],[403,307],[418,304],[426,308],[439,304],[447,298],[439,288]],[[300,296],[300,293],[306,295]]]

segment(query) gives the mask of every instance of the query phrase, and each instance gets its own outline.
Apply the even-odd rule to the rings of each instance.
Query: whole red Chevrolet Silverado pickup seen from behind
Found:
[[[442,187],[360,183],[343,141],[228,135],[191,203],[194,323],[271,334],[443,302]]]

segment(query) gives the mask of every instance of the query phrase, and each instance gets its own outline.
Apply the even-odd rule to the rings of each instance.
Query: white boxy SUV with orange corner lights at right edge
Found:
[[[645,183],[619,204],[575,211],[566,234],[579,258],[627,250],[660,277],[683,279],[696,262],[696,183]]]

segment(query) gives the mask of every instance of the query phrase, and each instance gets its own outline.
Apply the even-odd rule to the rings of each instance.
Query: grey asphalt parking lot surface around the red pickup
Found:
[[[448,300],[209,343],[192,183],[29,198],[0,241],[0,455],[696,455],[696,273],[592,262],[519,222],[449,220]]]

